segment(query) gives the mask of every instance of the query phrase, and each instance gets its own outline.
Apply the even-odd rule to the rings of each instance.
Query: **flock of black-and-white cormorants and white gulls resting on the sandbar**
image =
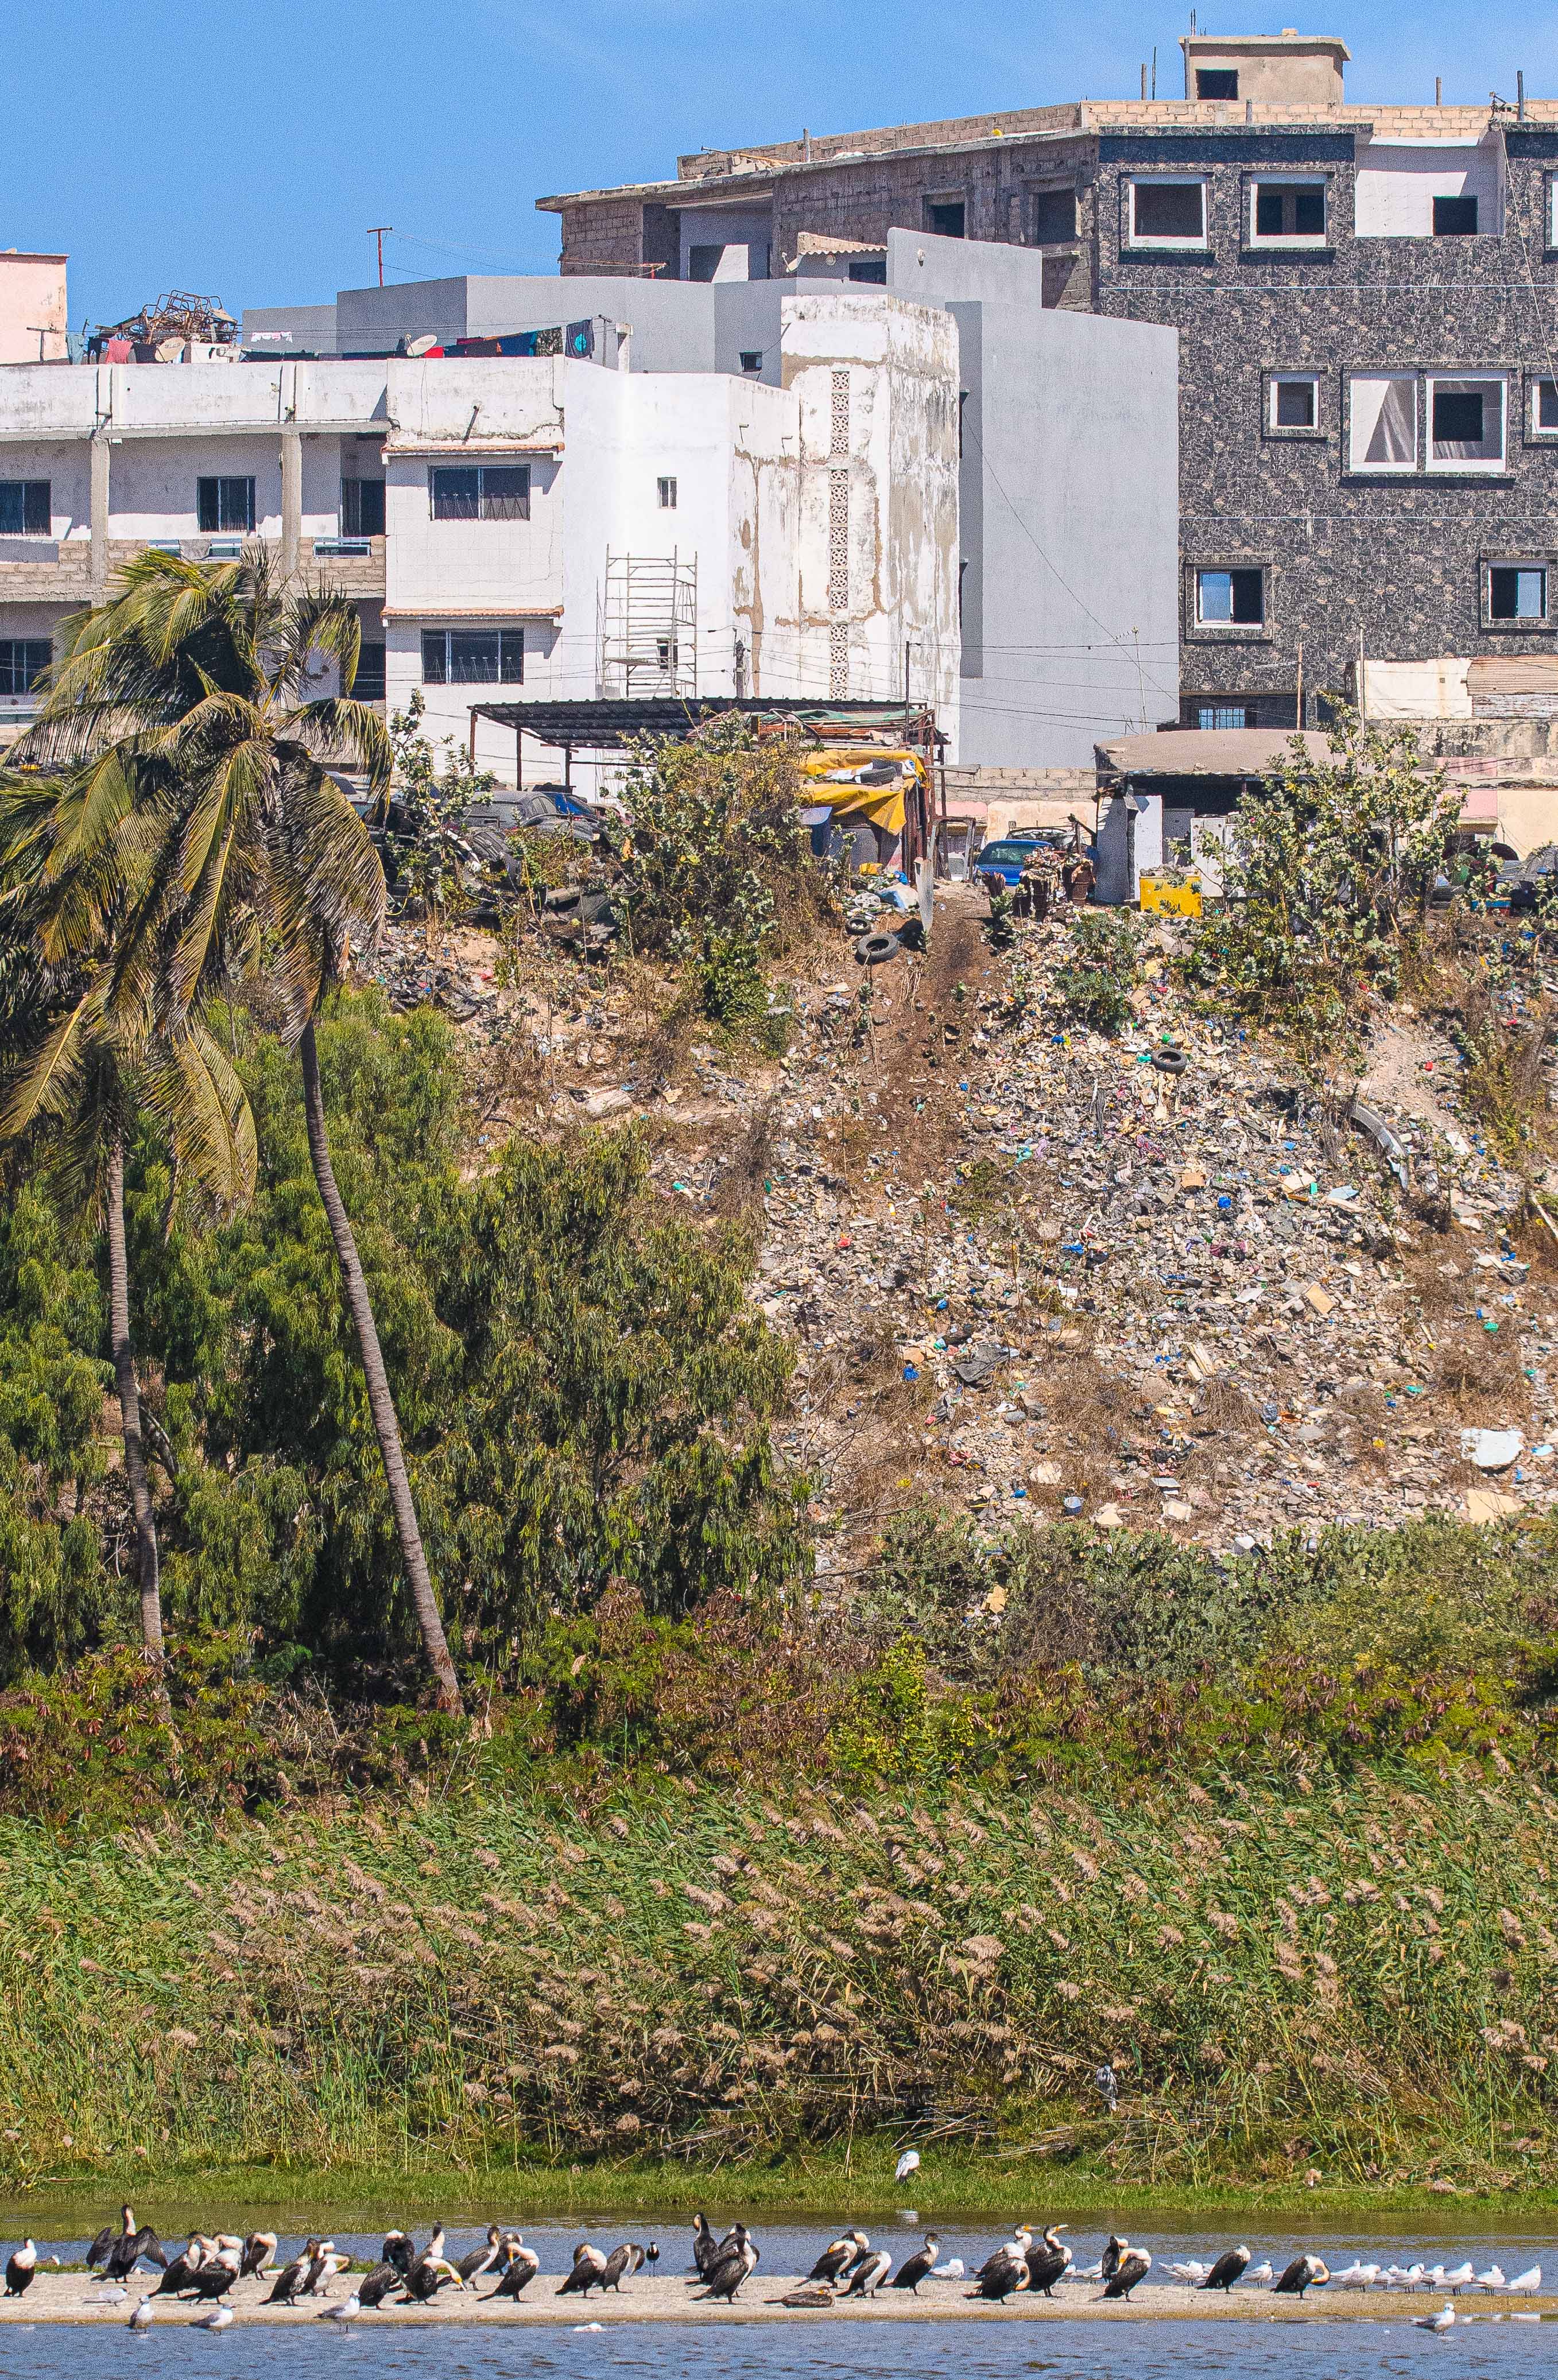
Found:
[[[890,2249],[873,2247],[863,2230],[849,2228],[828,2242],[797,2287],[768,2299],[768,2304],[821,2309],[840,2299],[873,2299],[880,2290],[909,2290],[918,2297],[925,2280],[970,2280],[973,2287],[963,2294],[985,2304],[1006,2304],[1023,2292],[1054,2299],[1058,2282],[1099,2282],[1097,2294],[1101,2299],[1130,2299],[1132,2290],[1154,2268],[1149,2249],[1132,2247],[1130,2240],[1116,2232],[1108,2235],[1108,2244],[1097,2263],[1078,2266],[1061,2237],[1066,2228],[1066,2223],[1049,2223],[1035,2230],[1032,2223],[1018,2223],[1011,2240],[992,2249],[973,2275],[961,2256],[937,2263],[942,2244],[937,2232],[925,2232],[923,2244],[904,2256],[894,2271]],[[162,2299],[207,2306],[209,2311],[197,2316],[200,2328],[226,2330],[233,2323],[228,2299],[240,2280],[259,2280],[266,2292],[259,2304],[269,2306],[300,2306],[319,2299],[319,2318],[347,2328],[362,2313],[371,2313],[390,2299],[402,2306],[426,2306],[440,2290],[476,2290],[478,2280],[492,2282],[485,2292],[492,2299],[519,2299],[540,2273],[535,2249],[526,2247],[521,2232],[502,2223],[488,2223],[485,2242],[459,2259],[445,2254],[442,2223],[433,2225],[433,2235],[421,2249],[409,2232],[392,2230],[383,2242],[378,2263],[366,2273],[352,2275],[347,2294],[328,2304],[331,2282],[350,2271],[352,2256],[338,2249],[333,2240],[307,2240],[297,2256],[290,2256],[281,2266],[276,2256],[276,2232],[250,2232],[247,2237],[238,2232],[216,2232],[209,2237],[193,2232],[181,2249],[169,2254],[157,2232],[145,2223],[138,2225],[133,2209],[124,2206],[119,2225],[109,2223],[98,2232],[86,2261],[88,2271],[100,2275],[102,2304],[126,2301],[131,2294],[128,2282],[140,2273],[140,2266],[157,2268],[159,2278],[155,2287],[128,2313],[128,2328],[136,2335],[145,2335],[152,2328]],[[699,2213],[692,2223],[687,2282],[709,2301],[733,2304],[756,2271],[759,2256],[761,2249],[745,2223],[735,2223],[723,2237],[716,2237],[709,2218]],[[659,2263],[654,2240],[647,2247],[637,2240],[626,2240],[609,2254],[585,2240],[573,2249],[573,2263],[557,2294],[588,2299],[592,2290],[602,2294],[607,2290],[616,2292],[623,2280],[654,2263]],[[5,2294],[24,2297],[33,2285],[36,2271],[36,2242],[24,2240],[5,2266]],[[1323,2290],[1332,2282],[1337,2290],[1446,2292],[1441,2311],[1418,2323],[1420,2330],[1437,2335],[1451,2330],[1456,2320],[1480,2318],[1456,2313],[1456,2299],[1468,2290],[1529,2294],[1541,2287],[1541,2266],[1532,2266],[1527,2273],[1506,2280],[1496,2263],[1477,2273],[1470,2261],[1449,2271],[1441,2263],[1380,2266],[1353,2261],[1346,2271],[1332,2273],[1320,2256],[1301,2254],[1277,2273],[1270,2263],[1251,2266],[1249,2247],[1230,2247],[1211,2263],[1185,2261],[1168,2263],[1161,2271],[1187,2287],[1223,2294],[1246,2285],[1270,2290],[1273,2297],[1301,2299],[1308,2290]],[[1491,2320],[1503,2320],[1503,2316],[1491,2316]],[[1513,2313],[1510,2320],[1537,2320],[1537,2316]]]

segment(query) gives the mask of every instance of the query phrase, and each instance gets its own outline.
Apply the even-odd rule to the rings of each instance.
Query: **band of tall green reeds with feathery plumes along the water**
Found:
[[[0,2178],[1037,2144],[1132,2182],[1539,2180],[1534,1783],[1130,1809],[666,1785],[0,1825]],[[1092,2073],[1120,2073],[1106,2118]]]

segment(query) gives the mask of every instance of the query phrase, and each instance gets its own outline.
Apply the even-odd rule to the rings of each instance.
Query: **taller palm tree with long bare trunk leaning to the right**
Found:
[[[321,1002],[352,950],[378,940],[385,914],[378,854],[326,766],[347,757],[376,785],[388,781],[383,721],[350,697],[357,652],[354,607],[288,585],[259,552],[233,564],[138,555],[107,605],[67,621],[64,654],[17,754],[71,771],[71,812],[50,854],[59,942],[81,950],[109,888],[138,888],[105,964],[112,1012],[155,1019],[176,1040],[231,981],[235,950],[252,954],[264,940],[266,990],[300,1045],[309,1154],[423,1652],[440,1706],[459,1711],[314,1047]],[[328,669],[343,695],[319,690]]]

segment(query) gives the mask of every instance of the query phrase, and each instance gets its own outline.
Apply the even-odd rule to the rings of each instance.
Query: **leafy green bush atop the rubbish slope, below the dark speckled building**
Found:
[[[1327,759],[1294,735],[1232,816],[1225,900],[1196,931],[1192,981],[1332,1066],[1361,1007],[1396,992],[1453,823],[1411,726],[1344,709]]]

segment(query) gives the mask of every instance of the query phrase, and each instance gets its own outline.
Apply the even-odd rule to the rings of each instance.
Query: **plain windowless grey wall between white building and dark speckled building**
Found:
[[[887,236],[887,288],[959,331],[959,759],[992,766],[1085,766],[1180,702],[1177,336],[1044,309],[1042,269]]]

